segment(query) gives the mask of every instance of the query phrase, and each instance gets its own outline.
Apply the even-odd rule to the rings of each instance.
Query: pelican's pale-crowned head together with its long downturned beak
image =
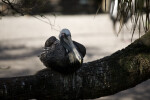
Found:
[[[70,62],[74,63],[77,60],[78,62],[82,63],[82,57],[72,42],[70,31],[68,29],[62,29],[59,34],[59,39],[60,43],[66,49],[66,52],[69,54]]]

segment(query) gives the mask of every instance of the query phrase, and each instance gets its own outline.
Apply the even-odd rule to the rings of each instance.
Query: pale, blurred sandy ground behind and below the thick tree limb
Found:
[[[36,18],[35,18],[36,17]],[[116,37],[108,15],[3,17],[0,20],[0,77],[32,75],[45,68],[38,55],[50,36],[68,28],[72,39],[85,45],[84,62],[111,55],[131,43],[129,29]],[[135,36],[136,38],[136,36]],[[150,80],[132,89],[95,100],[149,100]]]

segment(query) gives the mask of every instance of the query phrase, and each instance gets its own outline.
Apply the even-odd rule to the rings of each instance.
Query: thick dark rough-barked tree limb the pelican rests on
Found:
[[[1,78],[0,99],[92,99],[112,95],[150,78],[150,32],[111,56],[84,63],[72,75],[50,69],[33,76]]]

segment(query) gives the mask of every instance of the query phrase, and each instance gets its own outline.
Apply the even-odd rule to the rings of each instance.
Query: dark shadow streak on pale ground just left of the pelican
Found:
[[[28,48],[20,46],[0,46],[0,60],[17,60],[32,56],[38,56],[42,48]]]

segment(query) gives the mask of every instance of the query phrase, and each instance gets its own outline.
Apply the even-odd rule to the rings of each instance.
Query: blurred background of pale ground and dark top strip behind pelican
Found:
[[[11,0],[10,0],[11,1]],[[109,56],[131,43],[132,23],[127,20],[117,36],[119,22],[111,17],[111,0],[12,0],[30,16],[15,14],[0,1],[0,77],[33,75],[44,69],[38,55],[46,39],[58,38],[68,28],[72,39],[85,45],[84,62]],[[17,3],[16,3],[17,2]],[[106,5],[106,6],[105,6]],[[16,5],[16,7],[20,7]],[[142,29],[141,29],[142,30]],[[138,30],[135,30],[138,33]],[[141,35],[143,33],[141,32]],[[135,34],[133,41],[139,37]],[[95,100],[149,100],[150,80],[112,96]]]

